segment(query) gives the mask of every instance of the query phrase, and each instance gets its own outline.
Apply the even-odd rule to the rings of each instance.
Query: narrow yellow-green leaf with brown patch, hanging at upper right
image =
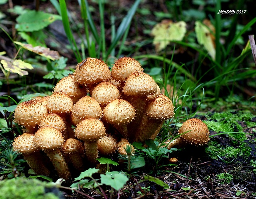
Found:
[[[200,21],[195,22],[195,32],[197,41],[203,45],[213,60],[215,60],[216,49],[215,49],[215,28],[211,24],[211,21],[204,19],[203,23]]]

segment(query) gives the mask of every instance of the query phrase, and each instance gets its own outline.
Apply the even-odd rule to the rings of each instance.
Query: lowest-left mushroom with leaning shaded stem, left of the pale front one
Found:
[[[17,138],[14,138],[12,143],[13,150],[23,155],[24,159],[35,173],[49,176],[50,171],[45,166],[44,157],[36,148],[33,138],[34,135],[31,133],[23,133]]]

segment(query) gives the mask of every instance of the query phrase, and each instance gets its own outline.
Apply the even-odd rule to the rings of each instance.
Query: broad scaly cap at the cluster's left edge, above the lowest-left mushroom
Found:
[[[22,126],[32,126],[40,124],[48,110],[40,99],[32,99],[17,105],[14,111],[14,122]]]

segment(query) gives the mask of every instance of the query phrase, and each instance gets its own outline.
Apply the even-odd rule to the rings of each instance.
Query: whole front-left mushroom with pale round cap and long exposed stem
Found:
[[[39,150],[43,150],[55,166],[59,177],[68,179],[71,174],[60,148],[64,144],[62,133],[50,126],[45,126],[34,135],[34,142]]]

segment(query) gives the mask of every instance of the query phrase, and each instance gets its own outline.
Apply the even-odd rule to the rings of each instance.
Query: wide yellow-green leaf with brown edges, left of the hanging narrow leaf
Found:
[[[164,49],[172,40],[183,40],[187,31],[186,25],[184,21],[173,23],[167,19],[157,23],[151,31],[151,35],[154,36],[153,44],[156,47],[156,52]]]

